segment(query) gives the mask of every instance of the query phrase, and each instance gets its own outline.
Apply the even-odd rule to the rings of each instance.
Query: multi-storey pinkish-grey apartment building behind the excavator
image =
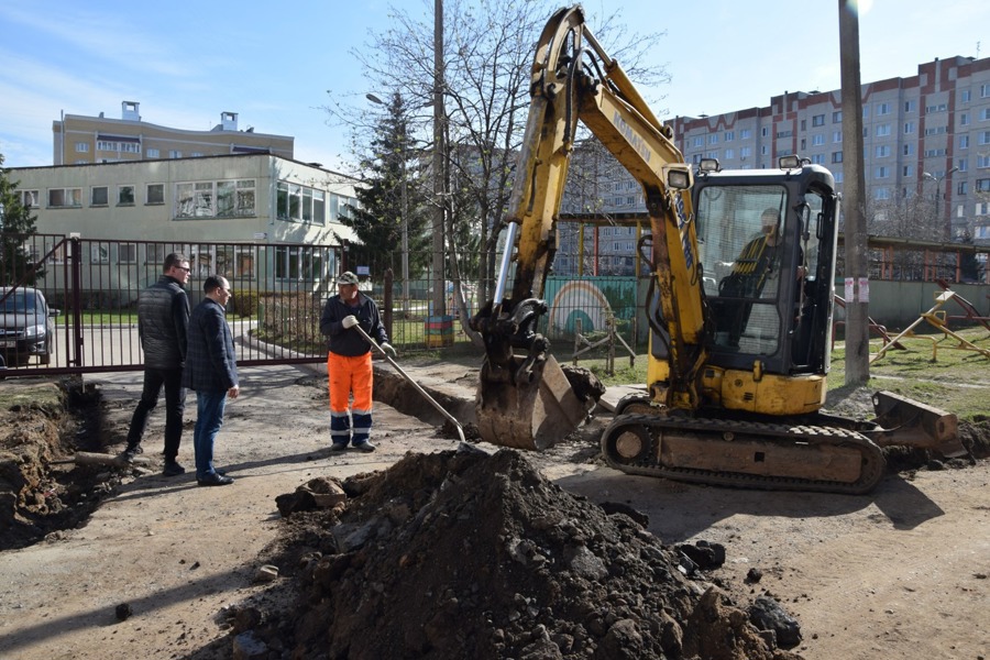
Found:
[[[843,188],[839,89],[785,91],[766,107],[666,123],[690,163],[717,158],[726,169],[767,168],[780,156],[799,154],[827,167]],[[864,84],[862,123],[871,234],[930,241],[968,235],[990,243],[990,58],[935,59],[919,65],[916,75]],[[569,182],[564,212],[615,218],[646,212],[642,190],[625,169],[601,165],[594,148],[581,151],[575,148],[572,160],[579,182]],[[625,271],[630,260],[622,257],[628,256],[636,229],[600,232],[598,257]],[[561,234],[559,254],[576,249],[575,235]],[[565,257],[558,270],[570,264]]]

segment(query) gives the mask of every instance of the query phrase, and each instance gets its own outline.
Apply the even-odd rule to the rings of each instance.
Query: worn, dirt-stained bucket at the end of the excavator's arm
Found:
[[[553,355],[499,378],[486,363],[477,385],[475,415],[482,439],[516,449],[544,450],[587,419]]]

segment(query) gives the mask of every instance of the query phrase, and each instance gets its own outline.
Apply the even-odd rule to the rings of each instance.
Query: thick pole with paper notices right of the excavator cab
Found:
[[[870,378],[869,278],[867,277],[866,179],[862,172],[862,88],[859,81],[859,16],[856,0],[839,0],[843,95],[843,215],[846,234],[846,385]]]

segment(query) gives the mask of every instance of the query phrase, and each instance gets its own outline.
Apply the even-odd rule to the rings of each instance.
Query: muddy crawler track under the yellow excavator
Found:
[[[886,469],[880,448],[850,429],[667,415],[617,416],[602,453],[628,474],[849,495],[871,491]]]

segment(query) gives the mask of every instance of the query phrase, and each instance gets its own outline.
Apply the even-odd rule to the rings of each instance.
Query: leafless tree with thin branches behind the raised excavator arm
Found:
[[[468,232],[463,228],[451,231],[452,239],[481,239],[481,299],[487,298],[494,278],[497,241],[529,105],[534,45],[558,4],[549,0],[452,0],[444,4],[442,91],[447,108],[444,133],[451,145],[446,176],[457,182],[462,195],[459,212],[448,217],[451,222],[471,226]],[[393,8],[392,18],[392,25],[374,33],[371,43],[356,51],[355,56],[372,85],[400,92],[415,108],[429,101],[435,89],[432,1],[421,3],[415,13],[407,8]],[[602,21],[590,12],[588,21],[613,55],[623,59],[631,78],[645,86],[668,79],[662,67],[640,65],[662,33],[641,35],[624,31],[620,12]],[[613,38],[616,33],[622,33],[617,46],[613,43],[617,41]],[[328,110],[338,118],[354,114],[339,102]],[[432,135],[429,121],[429,117],[421,118],[420,135]],[[415,122],[416,118],[410,118],[410,128],[415,128]],[[355,133],[355,144],[365,139],[363,132]],[[442,202],[453,206],[450,200]]]

